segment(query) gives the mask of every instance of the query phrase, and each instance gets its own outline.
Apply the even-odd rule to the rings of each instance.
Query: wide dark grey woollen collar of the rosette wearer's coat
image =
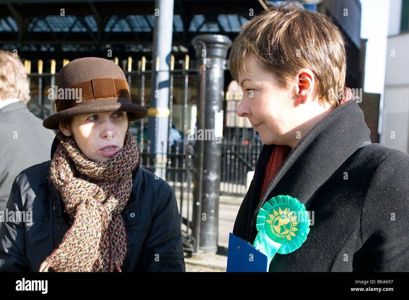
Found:
[[[290,195],[306,204],[315,191],[348,159],[364,141],[371,141],[364,114],[355,100],[339,105],[319,121],[283,161],[260,199],[265,166],[275,145],[263,146],[256,164],[249,220],[254,240],[256,216],[261,206],[277,195]],[[259,199],[261,200],[259,202]],[[254,214],[252,215],[252,212]],[[249,229],[248,229],[249,230]]]

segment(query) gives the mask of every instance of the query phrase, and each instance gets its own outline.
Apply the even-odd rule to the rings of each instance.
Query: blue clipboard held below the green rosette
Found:
[[[267,255],[230,233],[227,272],[268,272],[268,269]]]

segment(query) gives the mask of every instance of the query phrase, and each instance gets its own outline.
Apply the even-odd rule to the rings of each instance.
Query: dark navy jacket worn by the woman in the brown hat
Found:
[[[3,222],[0,226],[0,271],[38,271],[72,225],[49,179],[50,162],[27,168],[13,183],[8,210],[32,211],[32,220],[31,224]],[[128,254],[121,271],[185,271],[178,204],[165,181],[137,168],[121,215],[128,234]]]

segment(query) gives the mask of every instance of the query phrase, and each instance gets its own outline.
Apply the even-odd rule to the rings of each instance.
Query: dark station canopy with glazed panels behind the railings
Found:
[[[175,0],[172,54],[194,56],[202,33],[230,39],[263,11],[257,0]],[[160,13],[160,12],[159,12]],[[152,53],[155,1],[6,0],[0,4],[0,49],[27,59],[61,60]]]

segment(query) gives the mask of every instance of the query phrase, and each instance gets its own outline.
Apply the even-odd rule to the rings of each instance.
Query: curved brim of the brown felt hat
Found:
[[[59,129],[60,121],[72,116],[115,111],[127,112],[130,116],[130,121],[143,119],[148,114],[148,109],[146,107],[130,103],[130,101],[125,98],[89,100],[61,112],[52,114],[43,121],[43,126],[48,129]]]

